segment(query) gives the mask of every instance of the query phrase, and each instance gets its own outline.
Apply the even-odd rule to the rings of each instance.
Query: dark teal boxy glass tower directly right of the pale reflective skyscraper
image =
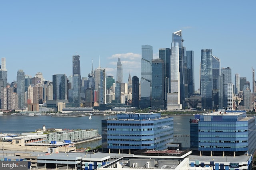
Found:
[[[152,109],[164,110],[164,60],[152,60]]]

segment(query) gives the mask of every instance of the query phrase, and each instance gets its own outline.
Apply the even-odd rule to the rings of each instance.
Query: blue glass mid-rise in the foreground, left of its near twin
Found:
[[[173,118],[160,113],[121,113],[102,120],[102,148],[106,152],[166,149],[173,141]]]

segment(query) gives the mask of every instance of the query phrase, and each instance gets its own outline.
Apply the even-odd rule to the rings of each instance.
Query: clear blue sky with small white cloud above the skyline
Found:
[[[141,45],[170,48],[182,29],[183,45],[194,51],[195,89],[199,88],[201,49],[212,49],[222,67],[252,82],[255,66],[256,1],[237,0],[45,0],[0,1],[0,57],[8,82],[17,71],[46,80],[72,75],[72,55],[80,55],[81,76],[92,67],[116,78],[120,55],[124,82],[140,76]]]

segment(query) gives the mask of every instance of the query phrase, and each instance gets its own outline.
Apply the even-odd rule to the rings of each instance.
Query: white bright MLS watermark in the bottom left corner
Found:
[[[28,170],[28,162],[0,161],[0,170]]]

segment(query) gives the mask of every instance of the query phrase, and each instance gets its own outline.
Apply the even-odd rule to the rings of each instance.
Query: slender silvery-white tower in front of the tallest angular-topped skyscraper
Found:
[[[167,94],[167,110],[182,109],[180,104],[179,43],[172,43],[170,65],[170,93]]]

